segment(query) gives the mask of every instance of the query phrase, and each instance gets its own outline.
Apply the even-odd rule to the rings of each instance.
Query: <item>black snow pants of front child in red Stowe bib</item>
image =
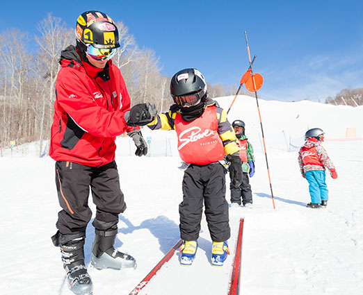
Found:
[[[184,171],[183,201],[179,204],[180,237],[191,241],[199,237],[204,214],[213,242],[229,239],[228,203],[225,200],[225,169],[220,163],[189,165]]]

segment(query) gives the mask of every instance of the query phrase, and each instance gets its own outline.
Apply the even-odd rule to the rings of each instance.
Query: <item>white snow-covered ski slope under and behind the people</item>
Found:
[[[233,97],[218,99],[225,110]],[[241,294],[360,295],[363,292],[363,141],[342,140],[346,128],[362,137],[363,108],[328,106],[309,101],[259,100],[276,209],[262,149],[255,99],[239,96],[229,121],[243,119],[255,147],[256,173],[251,178],[252,209],[230,208],[234,251],[238,221],[244,218]],[[307,128],[325,130],[323,144],[337,167],[327,177],[326,210],[305,208],[307,182],[300,176],[297,151]],[[137,158],[127,137],[118,139],[116,161],[127,210],[120,215],[116,247],[137,260],[137,269],[90,269],[94,294],[129,294],[179,239],[178,204],[183,172],[177,167],[173,131],[143,129],[152,156]],[[332,140],[332,141],[330,141]],[[162,152],[161,152],[162,151]],[[65,284],[61,254],[51,243],[59,210],[54,161],[38,158],[34,146],[3,151],[0,158],[0,294],[72,294]],[[227,200],[229,201],[227,176]],[[94,209],[92,201],[91,208]],[[86,262],[94,237],[90,225]],[[181,267],[178,254],[141,294],[227,294],[232,255],[223,268],[211,267],[211,239],[202,221],[200,248],[192,267]]]

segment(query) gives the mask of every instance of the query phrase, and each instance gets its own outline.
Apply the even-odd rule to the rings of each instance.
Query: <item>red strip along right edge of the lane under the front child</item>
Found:
[[[241,259],[242,259],[242,234],[243,218],[239,220],[239,236],[236,243],[236,253],[232,264],[231,280],[229,282],[228,295],[239,295],[239,280],[241,276]]]

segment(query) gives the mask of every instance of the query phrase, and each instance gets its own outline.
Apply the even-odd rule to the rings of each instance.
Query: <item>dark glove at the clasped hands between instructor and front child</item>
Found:
[[[154,120],[157,110],[150,103],[138,103],[124,114],[124,121],[129,126],[144,126]]]

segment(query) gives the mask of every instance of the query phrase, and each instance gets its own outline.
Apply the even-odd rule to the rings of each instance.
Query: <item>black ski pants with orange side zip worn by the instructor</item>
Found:
[[[63,208],[58,212],[56,223],[61,235],[86,233],[92,217],[88,207],[90,189],[98,221],[117,224],[118,214],[126,210],[115,161],[101,167],[57,161],[56,187],[58,201]]]

